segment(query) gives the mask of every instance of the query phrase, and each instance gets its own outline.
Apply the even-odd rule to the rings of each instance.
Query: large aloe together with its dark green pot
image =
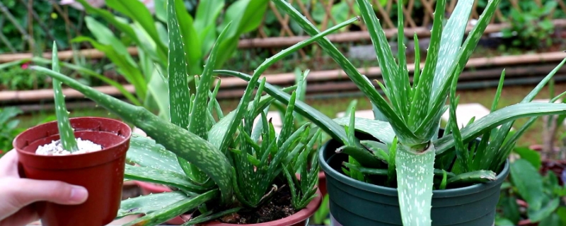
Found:
[[[319,33],[287,1],[272,1],[308,35]],[[357,119],[353,114],[332,120],[302,102],[295,103],[297,112],[333,138],[319,153],[319,161],[327,176],[330,212],[337,222],[342,225],[493,224],[499,187],[509,173],[507,157],[516,140],[532,124],[522,126],[511,136],[514,120],[566,113],[564,104],[531,103],[564,64],[562,61],[521,103],[497,109],[502,74],[491,114],[470,121],[461,129],[456,125],[458,98],[454,93],[458,76],[499,1],[488,1],[464,42],[473,0],[458,1],[446,24],[446,1],[437,1],[427,59],[421,70],[419,49],[415,49],[416,70],[410,83],[402,8],[398,7],[400,48],[395,60],[371,4],[357,0],[381,67],[384,84],[379,81],[377,84],[389,101],[328,39],[317,41],[374,104],[375,120]],[[416,35],[415,42],[418,42]],[[255,79],[236,71],[217,73],[252,82]],[[277,100],[289,100],[289,95],[277,88],[267,84],[265,88]],[[449,93],[450,107],[445,104]],[[441,130],[441,115],[449,108],[449,124]]]

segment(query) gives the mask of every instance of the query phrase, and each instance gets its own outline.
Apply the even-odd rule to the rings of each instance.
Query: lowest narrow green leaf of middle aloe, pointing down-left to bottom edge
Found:
[[[206,203],[207,201],[211,201],[213,198],[218,196],[218,190],[211,190],[207,191],[204,194],[200,194],[199,196],[195,196],[192,198],[185,198],[182,201],[178,201],[173,203],[171,206],[167,206],[166,208],[162,208],[161,210],[154,211],[153,213],[149,213],[148,215],[144,215],[141,218],[137,218],[132,222],[128,222],[125,226],[130,225],[158,225],[167,220],[175,218],[178,215],[181,215],[188,210],[197,208],[202,203]]]

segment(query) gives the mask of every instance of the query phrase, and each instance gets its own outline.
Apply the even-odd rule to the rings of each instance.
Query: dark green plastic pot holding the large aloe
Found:
[[[397,189],[359,182],[343,174],[342,162],[348,157],[335,153],[341,145],[330,140],[318,155],[326,174],[333,221],[343,226],[403,225]],[[506,162],[494,182],[432,191],[432,225],[494,225],[499,189],[508,174]]]

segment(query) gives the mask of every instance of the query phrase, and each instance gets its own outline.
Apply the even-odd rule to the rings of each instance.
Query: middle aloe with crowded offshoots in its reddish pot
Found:
[[[236,28],[228,25],[221,32],[202,75],[195,76],[195,94],[189,95],[185,51],[190,49],[183,48],[181,36],[192,33],[179,29],[179,10],[184,10],[183,1],[168,0],[168,68],[160,76],[168,85],[171,121],[100,93],[57,71],[41,66],[30,69],[62,81],[147,134],[148,137],[132,137],[127,159],[137,166],[126,165],[125,179],[164,184],[172,191],[122,201],[118,218],[144,215],[127,225],[158,225],[184,213],[190,213],[190,220],[184,225],[229,222],[306,225],[320,205],[320,191],[316,188],[318,158],[311,154],[316,152],[314,146],[321,146],[316,143],[320,143],[322,133],[311,132],[310,124],[294,126],[296,93],[293,92],[285,101],[284,125],[276,135],[265,116],[275,99],[261,96],[272,86],[258,78],[275,61],[358,18],[335,25],[267,59],[253,74],[238,107],[224,115],[216,101],[220,81],[213,90],[210,88],[216,57],[221,54],[218,43]],[[280,91],[285,93],[294,88]],[[261,120],[254,125],[258,115]],[[262,211],[266,208],[267,211]]]

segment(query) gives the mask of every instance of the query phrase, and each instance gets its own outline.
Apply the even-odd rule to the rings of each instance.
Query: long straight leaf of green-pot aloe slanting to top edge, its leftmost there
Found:
[[[319,33],[318,29],[315,25],[313,25],[310,21],[308,21],[304,16],[299,13],[291,4],[284,0],[272,0],[272,2],[283,11],[285,11],[293,20],[297,22],[301,28],[308,34],[308,35],[317,35]],[[363,2],[362,2],[363,3]],[[370,12],[371,6],[365,6],[366,13],[373,13]],[[366,21],[367,23],[367,21]],[[371,30],[371,29],[370,29]],[[325,52],[327,52],[330,57],[336,61],[340,67],[350,76],[350,79],[358,86],[360,90],[366,95],[366,97],[371,100],[371,102],[379,107],[379,110],[383,113],[383,115],[391,122],[395,133],[398,134],[400,141],[408,144],[418,144],[420,143],[417,136],[403,123],[403,119],[401,119],[393,109],[388,105],[385,99],[377,92],[375,87],[371,84],[366,82],[364,76],[362,76],[359,71],[357,71],[356,67],[346,59],[346,57],[338,51],[338,49],[327,39],[323,38],[318,40],[318,44],[322,47]],[[391,49],[389,50],[391,52]],[[386,91],[386,90],[384,90]],[[306,115],[304,115],[306,117]],[[317,124],[320,126],[319,124]],[[322,128],[322,126],[321,126]],[[327,131],[328,132],[328,131]],[[333,137],[334,138],[334,137]]]

